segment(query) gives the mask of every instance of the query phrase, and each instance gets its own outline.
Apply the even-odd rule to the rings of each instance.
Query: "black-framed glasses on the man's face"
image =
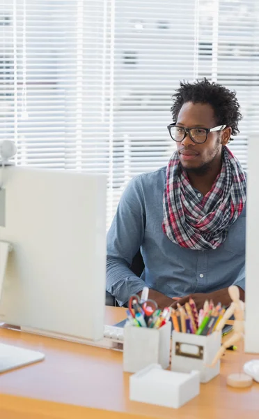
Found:
[[[167,126],[173,141],[181,142],[189,133],[191,140],[197,144],[203,144],[203,142],[207,140],[208,133],[222,131],[224,128],[226,128],[226,125],[214,126],[214,128],[184,128],[183,126],[176,124],[170,124]]]

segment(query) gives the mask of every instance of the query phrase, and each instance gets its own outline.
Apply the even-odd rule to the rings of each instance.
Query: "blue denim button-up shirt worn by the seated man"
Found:
[[[122,305],[143,286],[169,297],[210,293],[231,284],[244,289],[246,208],[221,247],[184,249],[162,230],[165,180],[164,167],[127,185],[107,235],[107,291]],[[145,263],[141,278],[129,268],[139,248]]]

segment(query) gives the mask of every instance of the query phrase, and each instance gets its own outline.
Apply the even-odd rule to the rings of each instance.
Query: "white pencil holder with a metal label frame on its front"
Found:
[[[221,333],[208,336],[173,330],[171,370],[175,372],[200,372],[201,383],[207,383],[219,374],[220,361],[211,368],[214,356],[221,347]]]

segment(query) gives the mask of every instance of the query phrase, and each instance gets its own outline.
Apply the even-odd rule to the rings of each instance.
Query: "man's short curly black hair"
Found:
[[[179,89],[173,94],[171,112],[174,121],[177,120],[182,105],[187,102],[210,103],[217,124],[230,126],[232,135],[240,132],[237,125],[242,115],[235,91],[230,91],[221,84],[209,82],[206,78],[201,81],[196,80],[194,83],[180,82]]]

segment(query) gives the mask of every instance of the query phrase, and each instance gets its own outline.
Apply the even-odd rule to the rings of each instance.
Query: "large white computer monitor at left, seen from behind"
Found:
[[[0,322],[101,339],[106,176],[10,166],[3,179],[0,241],[13,251],[0,286]]]

